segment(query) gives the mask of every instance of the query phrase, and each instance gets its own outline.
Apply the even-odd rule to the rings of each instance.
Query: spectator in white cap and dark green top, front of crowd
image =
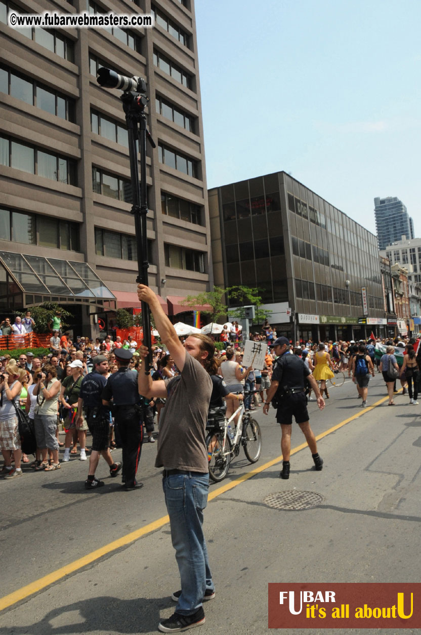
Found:
[[[67,415],[64,417],[64,429],[66,431],[66,436],[63,462],[68,462],[70,460],[70,446],[72,445],[74,431],[77,431],[77,436],[79,436],[81,461],[86,461],[87,423],[83,417],[79,418],[77,416],[77,401],[79,399],[79,392],[81,391],[82,385],[83,364],[79,359],[75,359],[75,361],[72,361],[69,366],[72,369],[71,375],[63,379],[62,391],[60,392],[60,402],[63,406],[63,412]],[[75,454],[75,452],[73,453]]]

